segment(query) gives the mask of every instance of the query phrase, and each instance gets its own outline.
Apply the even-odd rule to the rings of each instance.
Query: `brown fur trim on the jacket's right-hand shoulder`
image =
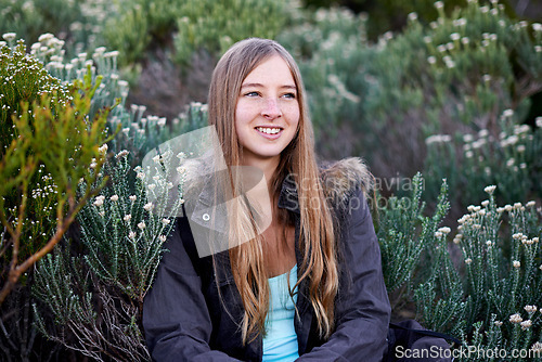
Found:
[[[374,188],[374,177],[359,157],[321,163],[320,179],[326,199],[339,209],[360,192],[367,198]]]

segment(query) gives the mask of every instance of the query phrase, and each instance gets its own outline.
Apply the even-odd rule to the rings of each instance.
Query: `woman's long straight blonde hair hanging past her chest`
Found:
[[[297,243],[302,255],[302,263],[298,266],[300,272],[296,286],[301,281],[308,280],[306,293],[314,310],[320,335],[326,338],[334,329],[334,301],[338,288],[336,242],[333,218],[319,178],[306,92],[299,68],[292,55],[281,44],[269,39],[249,38],[230,48],[212,73],[208,96],[209,125],[216,127],[227,164],[240,165],[243,151],[237,140],[234,120],[241,86],[254,68],[273,55],[280,55],[289,66],[297,86],[300,118],[296,135],[281,154],[272,186],[278,197],[282,181],[288,174],[298,185],[300,233]],[[235,185],[237,181],[233,180],[233,184]],[[302,188],[307,184],[311,186]],[[234,190],[240,189],[234,188]],[[312,205],[314,201],[319,202],[319,207]],[[235,233],[254,235],[254,219],[249,212],[238,211],[238,217],[230,218],[233,235]],[[287,212],[287,210],[279,209],[279,219],[289,220]],[[266,315],[269,309],[268,274],[263,261],[261,236],[231,248],[229,254],[233,277],[244,307],[244,318],[240,326],[245,344],[256,338],[258,334],[264,333]],[[300,292],[304,293],[304,290]]]

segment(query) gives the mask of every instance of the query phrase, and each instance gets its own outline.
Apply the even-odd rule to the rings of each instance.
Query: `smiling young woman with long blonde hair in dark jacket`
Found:
[[[261,230],[250,201],[241,203],[229,237],[256,236],[199,258],[188,218],[178,219],[144,302],[153,359],[380,361],[390,307],[369,172],[353,158],[318,168],[295,61],[272,40],[240,41],[219,61],[208,101],[227,165],[263,172],[269,194],[253,201],[269,196],[270,222]],[[233,196],[242,179],[230,172]],[[202,183],[186,183],[198,190],[188,209],[220,194]]]

